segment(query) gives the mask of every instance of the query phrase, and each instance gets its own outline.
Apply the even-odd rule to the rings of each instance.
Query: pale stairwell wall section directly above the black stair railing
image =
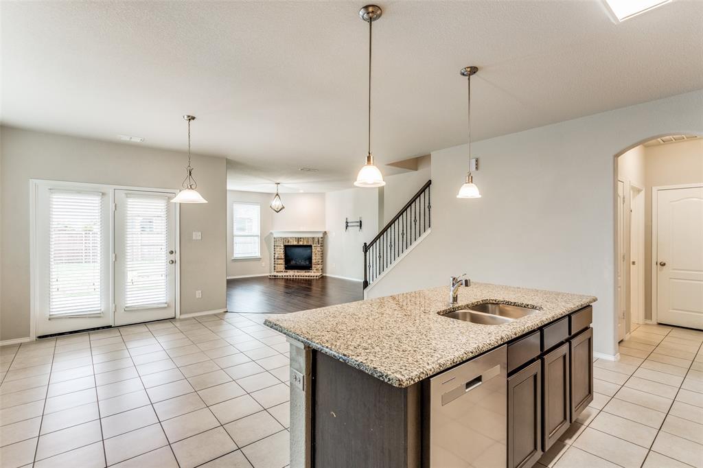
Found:
[[[381,228],[398,214],[420,187],[431,178],[430,155],[418,159],[418,170],[386,176],[386,185],[380,190]]]

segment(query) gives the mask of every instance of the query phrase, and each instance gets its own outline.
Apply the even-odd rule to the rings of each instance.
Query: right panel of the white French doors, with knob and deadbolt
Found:
[[[176,316],[173,196],[115,190],[115,325]]]

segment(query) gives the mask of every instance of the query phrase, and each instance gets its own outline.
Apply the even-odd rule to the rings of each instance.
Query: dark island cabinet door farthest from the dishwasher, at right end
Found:
[[[571,353],[571,417],[576,420],[593,401],[593,328],[569,341]]]

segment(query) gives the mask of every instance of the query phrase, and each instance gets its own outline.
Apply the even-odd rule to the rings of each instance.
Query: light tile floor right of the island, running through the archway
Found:
[[[593,363],[595,397],[536,465],[703,467],[703,332],[642,325]]]

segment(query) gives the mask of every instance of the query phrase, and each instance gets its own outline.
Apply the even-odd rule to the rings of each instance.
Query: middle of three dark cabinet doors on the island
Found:
[[[569,343],[542,358],[542,450],[547,451],[571,424]]]

